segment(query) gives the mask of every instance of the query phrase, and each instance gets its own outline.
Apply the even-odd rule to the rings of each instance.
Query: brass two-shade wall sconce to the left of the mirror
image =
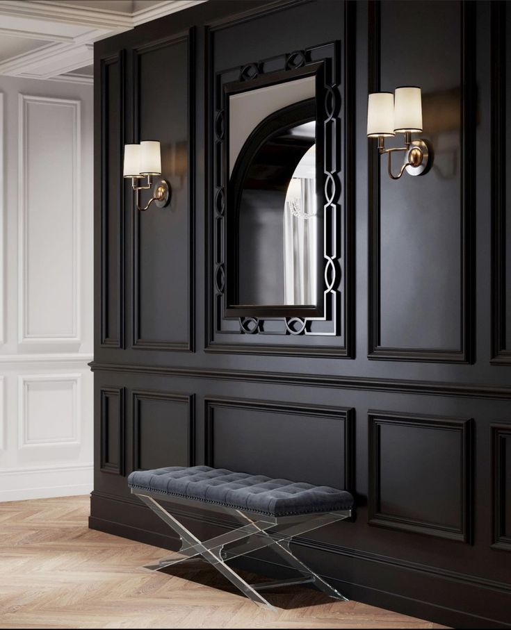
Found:
[[[161,175],[160,143],[145,140],[140,144],[126,144],[124,146],[124,177],[131,177],[131,188],[136,192],[136,207],[141,212],[147,210],[154,201],[159,208],[165,208],[170,201],[170,186],[168,181],[161,179],[154,184],[153,196],[147,206],[140,206],[140,190],[152,188],[154,176]],[[147,177],[147,184],[138,185],[139,180]]]

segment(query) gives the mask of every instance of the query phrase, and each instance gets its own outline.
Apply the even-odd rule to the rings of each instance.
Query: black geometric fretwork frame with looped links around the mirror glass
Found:
[[[323,95],[323,314],[321,317],[225,317],[226,306],[226,182],[225,101],[223,86],[233,81],[252,81],[264,74],[285,74],[321,63]],[[209,278],[209,351],[247,354],[305,354],[350,356],[347,315],[351,241],[347,213],[346,152],[341,150],[341,128],[346,129],[346,80],[341,95],[341,42],[293,51],[216,73],[212,87],[211,147],[211,267]],[[342,96],[342,98],[341,98]],[[350,131],[346,131],[346,135]],[[330,339],[330,342],[328,341]]]

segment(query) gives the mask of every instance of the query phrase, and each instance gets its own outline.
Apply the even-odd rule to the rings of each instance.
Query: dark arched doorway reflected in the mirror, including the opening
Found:
[[[229,207],[235,213],[229,217],[234,219],[230,234],[237,245],[236,304],[316,303],[316,278],[307,282],[295,278],[295,274],[317,273],[317,220],[304,230],[302,224],[310,219],[296,214],[296,204],[300,208],[307,204],[309,212],[314,203],[316,215],[315,118],[314,99],[279,110],[257,126],[238,155],[229,183]],[[306,165],[308,177],[302,178]],[[310,181],[303,194],[300,190],[291,197],[289,187],[297,193],[298,179]],[[295,214],[286,218],[288,207],[295,208]],[[314,264],[299,260],[303,254]]]

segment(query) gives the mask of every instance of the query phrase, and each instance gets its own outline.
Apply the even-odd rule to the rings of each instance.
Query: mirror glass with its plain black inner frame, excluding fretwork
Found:
[[[323,64],[224,85],[225,317],[321,317]]]

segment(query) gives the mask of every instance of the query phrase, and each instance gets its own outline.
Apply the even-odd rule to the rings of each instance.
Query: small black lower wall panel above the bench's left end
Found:
[[[192,466],[193,396],[133,392],[133,470]]]

